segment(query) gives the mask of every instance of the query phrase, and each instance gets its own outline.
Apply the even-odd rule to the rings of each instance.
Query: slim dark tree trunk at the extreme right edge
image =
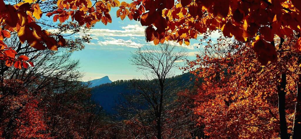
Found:
[[[301,74],[297,82],[297,102],[293,122],[293,139],[301,138]]]

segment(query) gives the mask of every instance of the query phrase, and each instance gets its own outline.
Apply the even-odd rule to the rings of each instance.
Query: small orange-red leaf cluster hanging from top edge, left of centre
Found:
[[[118,0],[97,1],[92,5],[91,0],[58,0],[56,11],[46,14],[50,17],[54,15],[53,21],[65,22],[71,16],[72,21],[76,20],[79,25],[86,25],[88,28],[101,21],[105,25],[112,23],[109,14],[111,7],[120,6]]]

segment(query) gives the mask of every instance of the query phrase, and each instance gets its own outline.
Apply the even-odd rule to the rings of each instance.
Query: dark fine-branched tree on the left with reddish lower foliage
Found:
[[[107,123],[79,80],[79,62],[72,52],[41,50],[34,67],[9,68],[0,88],[0,137],[101,138]],[[3,66],[5,67],[5,66]],[[34,129],[34,130],[31,130]]]

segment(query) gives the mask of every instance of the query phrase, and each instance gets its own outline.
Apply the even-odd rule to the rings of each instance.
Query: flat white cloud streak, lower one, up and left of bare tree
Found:
[[[105,41],[98,41],[98,44],[101,46],[104,45],[118,45],[118,46],[126,46],[132,48],[142,47],[142,44],[133,42],[132,40],[123,40],[123,39],[115,39],[115,40],[105,40]]]

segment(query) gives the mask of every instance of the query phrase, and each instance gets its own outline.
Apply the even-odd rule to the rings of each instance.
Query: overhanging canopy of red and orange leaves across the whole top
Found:
[[[43,11],[39,1],[25,0],[16,5],[1,4],[1,37],[9,38],[10,32],[17,32],[20,42],[25,41],[38,50],[45,48],[57,50],[64,46],[66,41],[62,36],[53,36],[41,28],[37,21]],[[118,0],[104,0],[92,3],[90,0],[58,0],[57,9],[50,11],[46,16],[53,16],[53,21],[64,23],[69,20],[88,28],[101,21],[105,25],[112,22],[109,14],[111,8],[119,7],[117,17],[122,20],[127,16],[130,20],[138,20],[142,26],[147,26],[146,39],[154,44],[164,41],[176,41],[182,45],[190,44],[190,39],[206,32],[222,30],[224,36],[239,41],[258,36],[254,40],[254,51],[262,64],[275,61],[275,50],[271,43],[275,35],[283,38],[292,37],[293,32],[300,32],[300,6],[297,0],[135,0],[128,4]],[[299,39],[300,40],[300,39]],[[0,42],[2,60],[7,66],[19,61],[12,55],[15,52]],[[292,48],[300,49],[300,41]],[[45,46],[46,45],[46,46]],[[258,46],[264,47],[258,47]],[[4,52],[5,51],[5,52]],[[31,65],[31,64],[30,64]]]

